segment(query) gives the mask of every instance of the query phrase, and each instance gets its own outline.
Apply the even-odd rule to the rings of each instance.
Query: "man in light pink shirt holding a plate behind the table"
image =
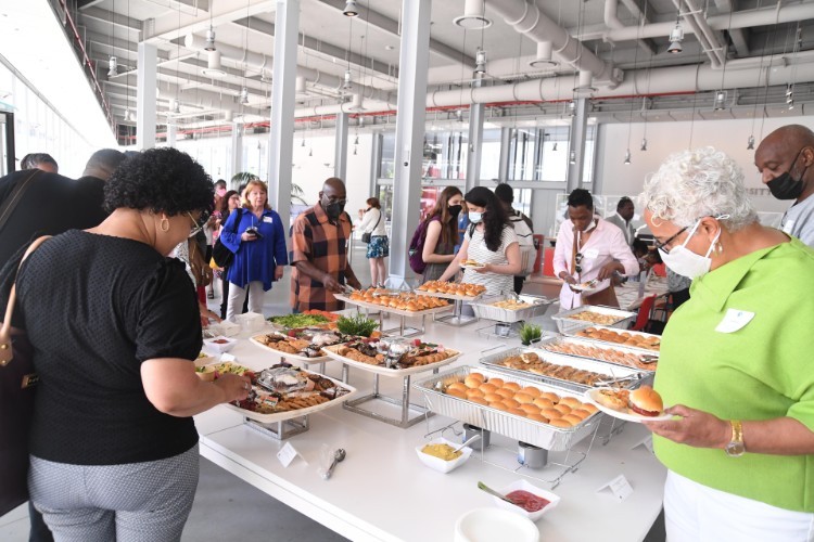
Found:
[[[560,225],[554,250],[554,272],[564,281],[560,309],[583,305],[619,307],[611,284],[613,272],[639,272],[624,233],[594,214],[594,197],[584,189],[569,194],[568,217]]]

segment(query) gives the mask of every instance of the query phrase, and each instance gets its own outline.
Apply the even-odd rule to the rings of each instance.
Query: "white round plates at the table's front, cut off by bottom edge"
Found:
[[[539,542],[539,529],[531,519],[497,508],[475,508],[455,522],[455,542]]]

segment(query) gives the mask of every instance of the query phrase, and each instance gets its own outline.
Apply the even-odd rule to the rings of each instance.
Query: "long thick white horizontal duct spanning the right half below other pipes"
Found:
[[[721,88],[734,89],[763,85],[786,85],[796,70],[797,80],[814,79],[814,63],[787,64],[783,55],[766,59],[762,67],[737,69],[737,61],[730,61],[722,78],[720,70],[709,64],[673,66],[654,69],[628,70],[625,80],[613,89],[602,89],[600,96],[641,95],[649,93],[703,92]],[[723,80],[722,80],[723,79]],[[534,79],[510,85],[471,88],[468,91],[445,90],[428,93],[427,106],[455,106],[470,103],[494,103],[509,101],[556,102],[570,100],[573,92],[568,85],[558,85],[556,77]],[[710,104],[711,106],[711,104]]]

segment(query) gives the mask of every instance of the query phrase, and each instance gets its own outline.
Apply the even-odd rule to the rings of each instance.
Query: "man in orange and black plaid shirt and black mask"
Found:
[[[291,308],[294,312],[343,307],[333,294],[342,285],[360,288],[347,264],[347,240],[351,219],[345,210],[345,183],[332,177],[322,184],[319,203],[296,217],[291,230]]]

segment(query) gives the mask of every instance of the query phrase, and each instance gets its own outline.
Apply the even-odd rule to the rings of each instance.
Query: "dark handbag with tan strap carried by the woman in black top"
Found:
[[[31,243],[22,262],[43,241]],[[28,435],[34,417],[37,374],[34,349],[23,330],[11,325],[16,300],[16,279],[0,324],[0,516],[28,500]]]

